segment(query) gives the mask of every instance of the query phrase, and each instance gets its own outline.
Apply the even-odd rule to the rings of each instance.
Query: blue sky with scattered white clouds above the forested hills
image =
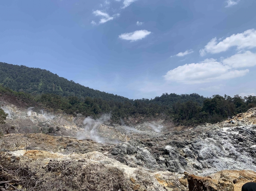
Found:
[[[255,0],[1,0],[0,62],[128,97],[256,95]]]

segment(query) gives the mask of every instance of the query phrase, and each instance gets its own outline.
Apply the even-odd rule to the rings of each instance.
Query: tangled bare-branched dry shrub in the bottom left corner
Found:
[[[67,190],[61,178],[46,174],[46,171],[42,168],[44,165],[42,160],[24,162],[15,160],[11,162],[10,159],[15,156],[11,156],[9,148],[8,143],[0,143],[0,190]]]

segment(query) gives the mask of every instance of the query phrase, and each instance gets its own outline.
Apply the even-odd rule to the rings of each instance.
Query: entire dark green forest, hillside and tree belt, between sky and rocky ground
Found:
[[[0,84],[2,93],[32,99],[55,111],[94,118],[111,112],[113,121],[145,117],[170,119],[177,125],[197,125],[216,123],[256,107],[256,96],[242,98],[239,95],[204,98],[195,93],[164,93],[150,100],[131,100],[84,87],[46,70],[6,63],[0,63]]]

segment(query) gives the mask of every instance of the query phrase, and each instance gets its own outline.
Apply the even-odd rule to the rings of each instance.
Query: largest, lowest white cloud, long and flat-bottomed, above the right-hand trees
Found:
[[[209,62],[192,63],[179,66],[168,71],[164,78],[167,81],[195,84],[241,77],[248,72],[248,69],[232,70],[232,67],[228,65],[224,65],[214,60],[209,60]]]

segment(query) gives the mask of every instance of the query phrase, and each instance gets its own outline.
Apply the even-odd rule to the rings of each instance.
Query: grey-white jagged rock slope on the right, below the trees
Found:
[[[159,137],[135,139],[129,143],[136,149],[133,152],[136,154],[117,154],[110,157],[119,161],[123,158],[125,163],[132,166],[179,174],[184,171],[209,175],[224,169],[256,170],[256,121],[252,116],[254,112],[255,108],[237,117],[241,121],[247,121],[242,126],[223,121],[170,132]],[[229,126],[225,127],[226,124]],[[143,152],[143,148],[147,152]]]

